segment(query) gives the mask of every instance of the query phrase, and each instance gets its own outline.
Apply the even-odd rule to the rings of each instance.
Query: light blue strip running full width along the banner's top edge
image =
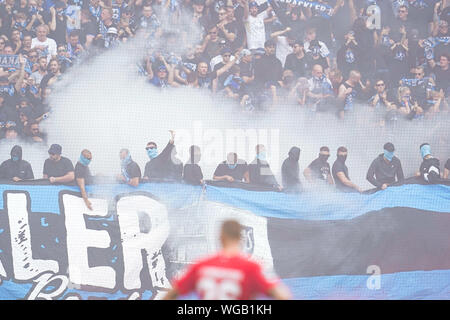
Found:
[[[60,191],[79,192],[77,187],[70,186],[0,185],[2,195],[8,190],[27,191],[32,199],[33,212],[55,214],[59,214]],[[169,208],[191,205],[199,201],[202,196],[202,188],[199,186],[172,183],[146,183],[137,188],[104,184],[88,186],[87,191],[95,197],[110,200],[120,194],[148,192],[159,198]],[[370,211],[393,207],[450,213],[450,186],[444,185],[407,184],[370,195],[333,192],[291,195],[207,186],[203,199],[249,210],[264,217],[285,219],[353,219]],[[3,209],[3,196],[0,197],[0,209]]]

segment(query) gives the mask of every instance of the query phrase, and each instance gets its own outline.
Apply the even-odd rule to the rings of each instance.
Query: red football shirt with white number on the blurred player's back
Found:
[[[180,295],[195,291],[204,300],[249,300],[278,284],[269,279],[261,266],[242,254],[218,253],[192,265],[174,281]]]

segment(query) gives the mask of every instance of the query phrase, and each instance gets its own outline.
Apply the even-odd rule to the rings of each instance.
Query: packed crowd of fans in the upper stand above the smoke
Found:
[[[440,117],[449,2],[2,0],[0,137],[46,143],[54,83],[138,34],[149,85],[201,88],[243,111],[297,104],[342,119],[366,108],[380,126]]]

